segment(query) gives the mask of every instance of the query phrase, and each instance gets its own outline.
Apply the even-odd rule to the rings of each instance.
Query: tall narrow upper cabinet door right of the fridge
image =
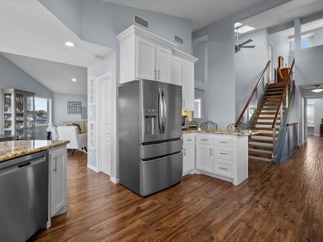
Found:
[[[194,63],[183,60],[183,109],[194,111]]]

